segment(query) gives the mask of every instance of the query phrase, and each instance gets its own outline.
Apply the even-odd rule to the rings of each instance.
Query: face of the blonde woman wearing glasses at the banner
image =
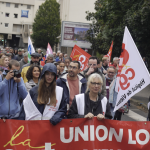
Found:
[[[98,78],[94,78],[89,86],[90,92],[98,94],[98,92],[101,89],[101,86],[102,86],[102,84],[101,84],[100,80]]]

